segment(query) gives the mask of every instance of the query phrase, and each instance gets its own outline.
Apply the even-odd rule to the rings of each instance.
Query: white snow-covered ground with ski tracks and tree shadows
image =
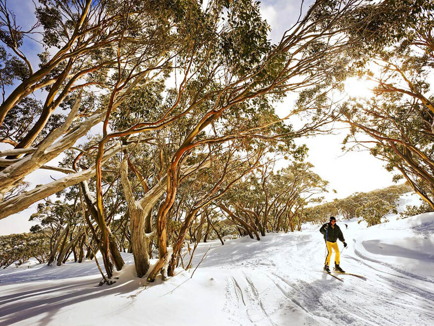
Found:
[[[403,206],[415,204],[409,196]],[[434,213],[389,220],[370,228],[338,220],[348,243],[341,266],[366,277],[338,274],[343,282],[322,271],[319,225],[200,244],[194,266],[209,252],[192,278],[180,271],[146,287],[133,265],[111,286],[98,286],[94,261],[8,267],[0,326],[433,326]]]

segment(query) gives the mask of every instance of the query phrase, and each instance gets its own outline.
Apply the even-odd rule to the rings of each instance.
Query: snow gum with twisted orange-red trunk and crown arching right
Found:
[[[188,132],[168,161],[166,196],[157,215],[160,261],[151,272],[150,280],[160,269],[164,273],[165,261],[170,255],[167,249],[167,217],[175,202],[179,169],[192,149],[247,137],[285,141],[318,130],[330,118],[327,109],[322,110],[328,108],[325,94],[327,89],[339,82],[341,74],[340,65],[336,62],[327,65],[325,58],[333,57],[339,63],[345,60],[339,55],[339,49],[345,46],[345,39],[331,35],[339,34],[334,22],[353,3],[339,6],[334,2],[316,1],[306,16],[288,30],[277,45],[267,42],[267,25],[261,20],[257,5],[229,3],[225,27],[217,29],[219,32],[214,35],[207,35],[203,55],[187,61],[186,68],[191,69],[189,73],[204,76],[205,79],[198,80],[199,87],[187,87],[191,92],[184,93],[183,98],[189,104],[187,112],[194,115],[186,116],[193,118],[190,119]],[[198,53],[202,51],[198,50]],[[214,54],[217,53],[222,56],[216,57]],[[205,65],[208,62],[206,58],[210,58],[211,62]],[[200,59],[199,62],[197,59]],[[187,78],[184,77],[184,80]],[[264,115],[263,111],[258,111],[261,106],[267,108],[271,98],[279,99],[285,92],[312,85],[323,89],[323,93],[319,100],[318,97],[312,98],[311,106],[306,106],[305,110],[314,107],[318,114],[300,130],[279,127],[276,125],[279,119],[274,114]],[[320,103],[322,106],[317,106]],[[295,112],[289,111],[288,116]]]

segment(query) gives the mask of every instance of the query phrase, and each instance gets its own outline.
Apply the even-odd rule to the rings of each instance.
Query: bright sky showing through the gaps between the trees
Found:
[[[26,2],[24,0],[19,1],[20,5],[16,5],[17,2],[11,1],[11,4],[15,3],[14,10],[19,18],[18,20],[22,19],[22,17],[27,17],[28,22],[33,22],[32,1],[28,1],[28,5],[21,4],[22,2]],[[300,13],[300,2],[299,0],[266,0],[261,2],[261,13],[271,25],[270,38],[272,41],[277,42],[280,40],[283,32],[296,21]],[[307,3],[310,2],[307,1]],[[305,4],[303,11],[306,11],[306,9],[307,5]],[[26,21],[26,19],[22,20]],[[40,52],[37,50],[39,49],[33,49],[35,55]],[[349,84],[348,91],[355,87],[360,88],[361,86],[357,83]],[[358,90],[360,91],[360,89]],[[286,111],[293,107],[294,99],[295,96],[289,94],[283,103],[277,105],[276,111],[284,115]],[[338,127],[332,134],[297,140],[298,144],[305,143],[308,146],[307,161],[314,165],[313,171],[320,175],[322,179],[329,182],[330,191],[324,194],[325,199],[330,201],[334,198],[343,198],[356,192],[368,192],[392,185],[393,174],[387,172],[383,168],[383,163],[369,154],[369,152],[344,153],[342,151],[342,140],[346,136],[347,130],[342,129],[342,126]],[[4,149],[4,147],[0,146],[0,149]],[[54,165],[59,160],[60,157],[54,159],[50,162],[50,165]],[[63,176],[62,173],[38,170],[29,175],[25,181],[30,182],[34,187],[37,184],[51,181],[51,178],[58,179],[61,176]],[[30,226],[34,224],[29,222],[28,219],[36,211],[36,205],[37,203],[20,213],[0,220],[0,235],[28,232]]]

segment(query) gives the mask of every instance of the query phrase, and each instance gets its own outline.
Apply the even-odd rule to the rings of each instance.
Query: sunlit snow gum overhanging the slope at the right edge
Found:
[[[387,170],[398,170],[395,180],[405,178],[434,209],[434,5],[381,1],[348,18],[349,33],[364,41],[350,51],[354,73],[374,84],[374,94],[342,109],[351,126],[347,143],[367,147]]]

